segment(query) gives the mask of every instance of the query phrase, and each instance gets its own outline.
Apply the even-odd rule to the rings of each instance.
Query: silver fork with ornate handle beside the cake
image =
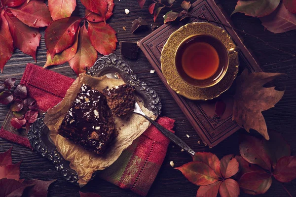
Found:
[[[182,149],[184,149],[187,153],[190,155],[195,155],[195,152],[177,135],[172,133],[171,131],[165,129],[155,121],[151,120],[148,116],[144,114],[144,112],[141,110],[139,104],[136,102],[134,113],[140,114],[144,116],[151,124],[153,124],[159,131],[161,131],[165,136],[167,136],[170,140],[172,140],[176,145],[180,146]]]

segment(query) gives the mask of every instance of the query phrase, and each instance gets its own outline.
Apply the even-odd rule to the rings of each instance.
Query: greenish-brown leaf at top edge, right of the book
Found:
[[[280,2],[281,0],[238,0],[232,14],[241,12],[247,16],[263,17],[271,14]]]

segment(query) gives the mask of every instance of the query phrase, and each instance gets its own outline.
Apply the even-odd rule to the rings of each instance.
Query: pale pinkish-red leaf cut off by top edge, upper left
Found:
[[[48,8],[53,20],[70,17],[75,7],[76,0],[48,0]]]

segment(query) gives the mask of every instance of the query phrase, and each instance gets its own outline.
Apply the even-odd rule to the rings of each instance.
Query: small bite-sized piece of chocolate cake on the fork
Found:
[[[134,110],[136,102],[134,92],[135,88],[126,84],[103,89],[108,105],[115,116],[123,116]]]

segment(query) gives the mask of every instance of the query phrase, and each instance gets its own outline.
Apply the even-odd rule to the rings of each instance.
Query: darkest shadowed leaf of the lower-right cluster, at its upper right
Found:
[[[291,148],[280,133],[269,131],[269,136],[270,139],[262,139],[262,143],[264,150],[272,163],[272,166],[275,167],[279,159],[291,155]]]

